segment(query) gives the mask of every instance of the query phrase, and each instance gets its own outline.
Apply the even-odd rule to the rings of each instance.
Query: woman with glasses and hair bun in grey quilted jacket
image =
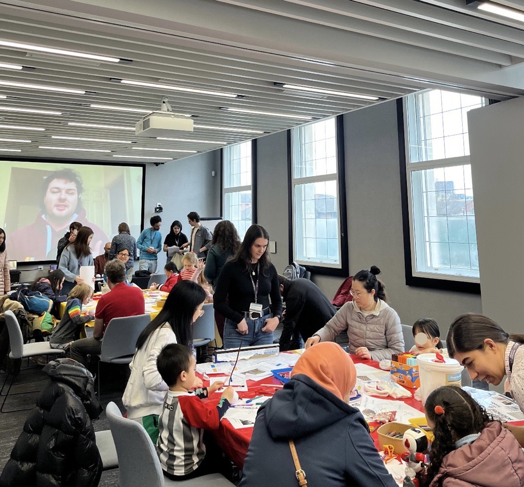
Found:
[[[402,325],[395,309],[387,303],[384,283],[376,276],[380,269],[372,265],[355,274],[351,285],[350,301],[317,331],[305,348],[318,344],[319,341],[333,340],[347,328],[349,351],[361,359],[391,359],[394,353],[404,351]]]

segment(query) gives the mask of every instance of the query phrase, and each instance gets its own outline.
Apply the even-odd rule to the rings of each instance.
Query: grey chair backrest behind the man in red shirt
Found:
[[[150,321],[148,314],[113,318],[104,333],[100,360],[111,362],[128,357],[130,362],[135,355],[136,340]]]

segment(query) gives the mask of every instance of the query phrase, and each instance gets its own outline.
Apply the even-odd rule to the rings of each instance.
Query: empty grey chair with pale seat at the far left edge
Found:
[[[20,325],[18,325],[18,320],[16,319],[15,314],[12,311],[6,311],[4,313],[5,318],[5,324],[7,326],[7,333],[9,334],[9,345],[11,348],[11,351],[9,352],[9,358],[11,360],[20,360],[29,358],[29,357],[36,357],[39,355],[63,355],[64,350],[51,348],[48,341],[38,341],[31,344],[25,344],[24,345],[24,338],[22,337],[22,331],[20,330]],[[6,377],[4,380],[4,384],[2,385],[2,389],[0,389],[0,395],[3,395],[5,385],[7,384],[7,380],[9,379],[9,375],[12,375],[11,382],[9,383],[9,387],[7,388],[7,392],[4,396],[4,401],[2,403],[2,407],[0,407],[0,413],[13,413],[15,411],[29,411],[29,409],[34,408],[35,406],[21,408],[21,409],[10,409],[9,411],[4,411],[5,402],[7,400],[7,396],[9,395],[9,392],[11,390],[11,386],[15,382],[15,379],[18,377],[18,374],[20,373],[20,367],[19,366],[13,366],[10,369],[7,369]],[[39,382],[42,379],[38,379],[37,381],[27,381],[25,382]],[[17,392],[13,395],[18,394],[29,394],[31,392],[38,392],[38,391],[26,391],[26,392]]]

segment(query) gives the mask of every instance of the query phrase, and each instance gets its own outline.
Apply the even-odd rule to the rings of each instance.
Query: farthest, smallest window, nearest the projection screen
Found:
[[[231,220],[241,240],[253,223],[252,141],[224,147],[224,219]]]

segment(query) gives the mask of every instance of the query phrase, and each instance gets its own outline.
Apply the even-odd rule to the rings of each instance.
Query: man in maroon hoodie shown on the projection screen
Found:
[[[42,211],[35,223],[22,227],[10,235],[9,246],[18,260],[56,260],[58,240],[73,221],[93,229],[91,251],[96,256],[106,242],[107,235],[88,222],[82,206],[83,185],[80,176],[71,169],[53,171],[43,180]]]

